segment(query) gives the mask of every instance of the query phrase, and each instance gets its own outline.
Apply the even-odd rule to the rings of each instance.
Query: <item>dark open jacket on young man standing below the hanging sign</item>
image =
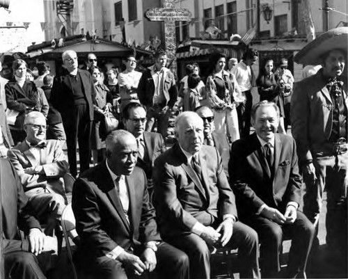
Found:
[[[155,93],[155,83],[152,79],[151,70],[143,72],[138,85],[138,97],[144,106],[152,106],[152,99]],[[173,107],[177,101],[177,87],[174,74],[166,69],[164,72],[163,93],[166,98],[166,105]]]

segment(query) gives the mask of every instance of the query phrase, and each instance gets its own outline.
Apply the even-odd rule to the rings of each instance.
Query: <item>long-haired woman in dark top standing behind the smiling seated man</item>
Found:
[[[286,134],[284,128],[284,104],[283,98],[280,96],[280,90],[274,74],[274,61],[271,58],[266,58],[256,80],[260,101],[267,100],[277,104],[280,111],[280,121],[278,132]]]

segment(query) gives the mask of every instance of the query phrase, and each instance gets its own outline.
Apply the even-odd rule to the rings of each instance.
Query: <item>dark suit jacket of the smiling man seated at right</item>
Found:
[[[296,144],[290,136],[276,134],[273,171],[255,133],[232,143],[228,170],[241,218],[254,216],[264,203],[283,213],[287,202],[300,204],[302,180]]]

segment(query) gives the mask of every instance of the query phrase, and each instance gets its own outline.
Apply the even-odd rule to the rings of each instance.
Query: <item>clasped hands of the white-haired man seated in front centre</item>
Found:
[[[210,226],[205,227],[200,237],[211,246],[226,246],[232,237],[234,223],[232,218],[226,218],[216,230]]]

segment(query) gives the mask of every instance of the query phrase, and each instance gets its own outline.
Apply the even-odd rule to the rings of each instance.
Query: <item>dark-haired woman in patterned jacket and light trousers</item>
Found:
[[[239,95],[239,87],[235,77],[224,70],[226,56],[214,53],[209,57],[212,65],[205,88],[209,95],[209,105],[214,112],[215,130],[218,133],[226,133],[230,142],[239,139],[238,116],[236,101]]]

